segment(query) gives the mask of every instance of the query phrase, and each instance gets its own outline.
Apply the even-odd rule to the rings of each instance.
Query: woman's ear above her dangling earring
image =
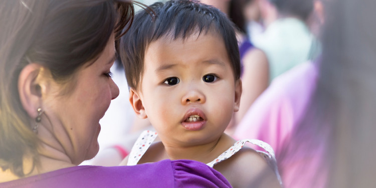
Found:
[[[31,63],[26,65],[19,75],[18,92],[20,101],[30,117],[37,117],[37,108],[41,105],[42,86],[38,83],[43,66]]]

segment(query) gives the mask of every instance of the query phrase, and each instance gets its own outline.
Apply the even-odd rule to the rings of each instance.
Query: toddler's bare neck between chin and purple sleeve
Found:
[[[165,157],[171,160],[190,159],[209,163],[235,143],[229,135],[223,133],[217,140],[195,146],[179,147],[163,143]]]

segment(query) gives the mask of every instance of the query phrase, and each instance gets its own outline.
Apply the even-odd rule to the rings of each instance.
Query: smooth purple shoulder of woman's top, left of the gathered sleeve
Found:
[[[155,173],[157,172],[158,173]],[[74,166],[0,183],[0,187],[137,187],[145,181],[162,179],[173,187],[171,161],[140,166]],[[151,173],[154,172],[155,174]],[[145,186],[144,186],[145,187]],[[146,186],[147,187],[147,186]]]

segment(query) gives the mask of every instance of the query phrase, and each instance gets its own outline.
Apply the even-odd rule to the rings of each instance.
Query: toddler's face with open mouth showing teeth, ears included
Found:
[[[130,99],[164,143],[187,146],[220,137],[239,109],[241,90],[222,38],[208,33],[151,43],[140,90]]]

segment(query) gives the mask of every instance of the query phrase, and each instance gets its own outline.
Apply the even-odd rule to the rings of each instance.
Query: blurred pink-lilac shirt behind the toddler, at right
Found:
[[[307,62],[296,66],[290,71],[273,80],[269,88],[254,102],[235,130],[235,139],[255,138],[269,143],[276,154],[277,164],[286,188],[291,187],[324,187],[326,171],[313,176],[324,160],[325,144],[314,156],[303,156],[307,148],[296,150],[294,158],[282,160],[280,153],[290,143],[290,133],[300,122],[315,89],[318,77],[316,63]],[[303,142],[302,142],[303,143]],[[259,148],[256,148],[259,149]],[[299,153],[300,152],[300,153]],[[303,172],[301,173],[301,169]],[[311,173],[312,172],[312,173]]]

